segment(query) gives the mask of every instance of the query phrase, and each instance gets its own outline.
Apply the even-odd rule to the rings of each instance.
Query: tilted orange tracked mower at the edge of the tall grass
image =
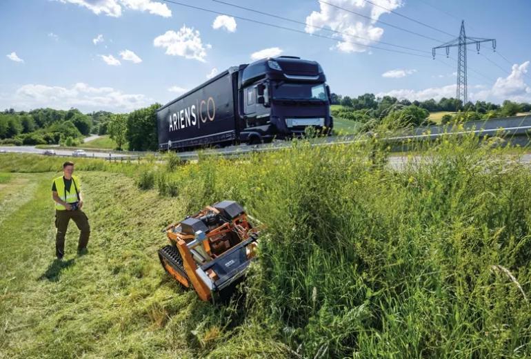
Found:
[[[193,287],[201,300],[232,291],[254,258],[259,235],[234,201],[206,206],[163,231],[170,240],[159,249],[163,268],[184,287]]]

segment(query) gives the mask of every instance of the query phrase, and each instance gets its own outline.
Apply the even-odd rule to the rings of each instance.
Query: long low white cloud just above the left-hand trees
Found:
[[[39,107],[68,110],[74,107],[86,112],[129,112],[148,106],[154,100],[141,94],[126,94],[111,87],[95,88],[79,82],[71,87],[26,84],[18,88],[12,98],[4,99],[4,102],[4,107],[23,110]]]

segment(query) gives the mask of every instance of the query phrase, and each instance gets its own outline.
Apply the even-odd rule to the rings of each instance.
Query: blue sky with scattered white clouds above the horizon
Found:
[[[531,101],[528,0],[172,1],[214,12],[163,0],[1,0],[0,109],[125,113],[277,55],[318,61],[341,95],[455,97],[457,48],[450,58],[431,50],[458,37],[461,20],[467,36],[497,41],[496,52],[469,46],[469,99]]]

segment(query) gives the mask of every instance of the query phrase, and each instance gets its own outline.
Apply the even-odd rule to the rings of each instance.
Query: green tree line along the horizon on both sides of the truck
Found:
[[[468,102],[463,106],[460,100],[443,97],[439,101],[409,101],[396,97],[376,97],[365,93],[358,97],[331,94],[332,104],[341,105],[332,108],[332,115],[343,119],[366,124],[370,128],[383,120],[396,126],[421,126],[432,124],[431,112],[449,111],[442,123],[465,122],[474,119],[510,117],[517,113],[531,111],[531,104],[503,101],[493,104],[486,101]],[[36,110],[4,110],[0,113],[0,144],[36,145],[60,144],[77,146],[83,137],[90,133],[110,135],[118,149],[130,151],[156,151],[157,108],[152,104],[146,108],[134,110],[128,114],[116,114],[97,111],[83,114],[76,108],[54,110],[38,108]],[[127,145],[127,146],[126,146]]]

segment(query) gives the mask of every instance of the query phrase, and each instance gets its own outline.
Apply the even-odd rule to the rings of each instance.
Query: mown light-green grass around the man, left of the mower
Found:
[[[78,173],[89,253],[77,256],[79,231],[70,222],[65,258],[56,262],[54,175],[25,175],[30,182],[19,189],[30,200],[0,225],[3,356],[197,358],[226,340],[231,307],[200,302],[159,264],[160,230],[183,216],[178,200],[138,191],[121,174]]]

